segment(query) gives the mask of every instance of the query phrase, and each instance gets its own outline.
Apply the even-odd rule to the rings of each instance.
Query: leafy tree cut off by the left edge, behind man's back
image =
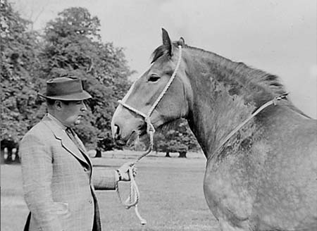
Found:
[[[36,78],[41,42],[30,22],[1,0],[1,139],[21,137],[37,122]]]

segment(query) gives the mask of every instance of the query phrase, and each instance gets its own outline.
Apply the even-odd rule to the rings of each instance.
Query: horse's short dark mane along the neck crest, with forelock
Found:
[[[173,42],[173,46],[177,47],[178,42]],[[210,69],[217,73],[216,80],[223,82],[224,85],[230,85],[231,94],[239,94],[246,92],[246,89],[252,89],[252,100],[259,107],[275,96],[285,94],[285,87],[280,82],[277,75],[266,73],[263,70],[251,68],[242,62],[234,62],[211,51],[205,51],[197,47],[183,45],[183,49],[190,49],[199,52],[199,56],[209,56],[208,63]],[[161,56],[168,54],[168,47],[161,45],[157,47],[151,55],[151,63],[154,63]],[[250,97],[251,98],[251,97]],[[290,103],[292,106],[292,103]],[[302,113],[299,109],[292,106],[295,111]],[[304,113],[302,113],[304,115]]]

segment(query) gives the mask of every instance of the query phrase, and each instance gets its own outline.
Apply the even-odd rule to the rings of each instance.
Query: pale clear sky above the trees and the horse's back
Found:
[[[278,75],[289,98],[317,116],[316,0],[9,0],[35,30],[68,7],[85,7],[101,21],[101,39],[123,47],[137,74],[170,39]]]

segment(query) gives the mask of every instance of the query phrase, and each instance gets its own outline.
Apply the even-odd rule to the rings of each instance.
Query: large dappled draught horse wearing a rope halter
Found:
[[[278,76],[172,42],[164,29],[162,39],[113,114],[116,143],[185,118],[206,156],[204,196],[220,230],[317,230],[316,120]]]

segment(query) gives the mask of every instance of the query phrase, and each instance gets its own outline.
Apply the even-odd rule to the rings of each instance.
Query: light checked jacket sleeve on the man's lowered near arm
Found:
[[[44,140],[26,135],[20,143],[23,190],[27,207],[41,230],[63,230],[51,193],[53,157]]]

